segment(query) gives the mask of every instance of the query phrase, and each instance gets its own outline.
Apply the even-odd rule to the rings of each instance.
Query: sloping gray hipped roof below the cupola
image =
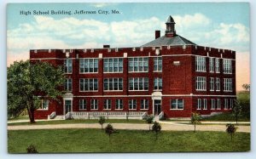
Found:
[[[193,42],[190,42],[188,39],[176,35],[175,37],[159,37],[149,43],[143,44],[141,47],[159,47],[159,46],[177,46],[177,45],[196,45]]]

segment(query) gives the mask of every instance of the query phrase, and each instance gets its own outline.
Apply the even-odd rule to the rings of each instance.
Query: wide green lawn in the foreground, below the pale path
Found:
[[[8,131],[9,153],[26,153],[28,145],[39,153],[62,152],[187,152],[247,151],[250,133],[236,133],[233,141],[224,132],[118,130],[111,136],[101,129],[54,129]]]

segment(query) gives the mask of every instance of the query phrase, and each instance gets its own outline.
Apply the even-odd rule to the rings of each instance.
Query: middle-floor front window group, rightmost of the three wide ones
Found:
[[[129,78],[129,90],[148,90],[148,78]]]

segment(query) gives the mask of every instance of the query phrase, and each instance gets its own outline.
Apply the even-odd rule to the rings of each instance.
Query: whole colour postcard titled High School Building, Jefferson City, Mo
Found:
[[[8,152],[241,152],[249,3],[9,3]]]

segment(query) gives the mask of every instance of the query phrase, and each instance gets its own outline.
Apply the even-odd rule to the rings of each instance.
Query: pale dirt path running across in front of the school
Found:
[[[104,124],[105,127],[107,124]],[[115,129],[133,129],[148,130],[148,124],[136,123],[113,123]],[[162,130],[171,131],[193,131],[194,126],[176,122],[161,123]],[[237,126],[237,132],[250,133],[250,126]],[[102,128],[98,123],[76,123],[76,124],[49,124],[49,125],[18,125],[8,126],[8,130],[26,130],[26,129],[56,129],[56,128]],[[197,125],[196,130],[199,131],[222,131],[226,129],[225,125]]]

